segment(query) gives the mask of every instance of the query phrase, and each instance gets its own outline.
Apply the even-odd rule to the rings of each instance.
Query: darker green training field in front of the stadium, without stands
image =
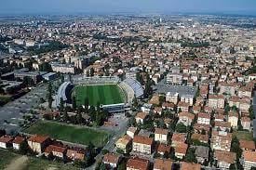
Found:
[[[104,131],[46,121],[39,121],[24,130],[24,132],[47,135],[52,138],[83,145],[88,145],[89,142],[92,142],[96,147],[104,146],[109,137],[109,134]]]

